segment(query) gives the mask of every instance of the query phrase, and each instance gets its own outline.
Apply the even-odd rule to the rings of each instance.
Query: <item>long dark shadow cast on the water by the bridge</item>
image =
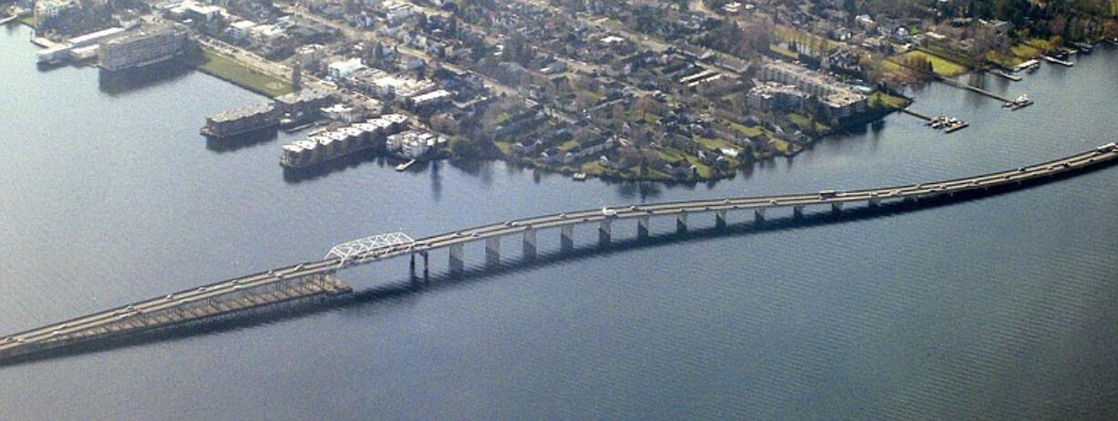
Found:
[[[56,350],[47,350],[38,353],[21,355],[0,362],[0,367],[10,366],[37,361],[53,360],[59,357],[76,356],[87,353],[97,353],[123,347],[158,343],[163,341],[180,341],[193,336],[216,334],[222,332],[237,331],[254,326],[291,320],[309,315],[322,314],[326,312],[338,312],[364,306],[385,305],[399,299],[418,297],[425,293],[434,293],[442,289],[465,286],[473,283],[481,283],[503,275],[518,271],[533,270],[537,268],[559,265],[562,262],[589,259],[601,256],[612,256],[631,250],[647,249],[674,245],[680,242],[701,242],[712,239],[745,237],[761,232],[781,232],[805,230],[815,227],[830,224],[868,221],[873,219],[889,218],[892,216],[930,211],[937,208],[947,207],[965,201],[974,201],[993,198],[1014,191],[1031,189],[1038,185],[1065,180],[1078,174],[1098,171],[1112,166],[1111,161],[1098,166],[1069,171],[1048,179],[1030,180],[1021,184],[1007,184],[986,191],[975,190],[970,192],[956,193],[955,195],[942,195],[937,198],[920,199],[911,202],[897,201],[882,203],[879,207],[862,205],[851,208],[840,212],[821,210],[806,212],[803,217],[778,217],[770,218],[764,222],[741,222],[729,224],[724,228],[709,227],[692,229],[688,232],[660,233],[647,238],[629,238],[614,240],[608,247],[586,246],[568,251],[555,251],[541,253],[536,258],[508,259],[499,264],[485,265],[476,268],[468,268],[461,272],[435,272],[432,276],[406,277],[397,279],[383,286],[358,290],[352,294],[320,299],[307,299],[302,302],[290,302],[269,307],[254,309],[250,313],[233,314],[224,318],[201,320],[190,324],[168,326],[155,331],[143,332],[126,337],[110,337],[88,343],[75,344]],[[815,209],[818,209],[817,205]],[[739,211],[748,212],[748,211]],[[670,218],[670,217],[667,217]],[[713,220],[713,217],[711,217]]]

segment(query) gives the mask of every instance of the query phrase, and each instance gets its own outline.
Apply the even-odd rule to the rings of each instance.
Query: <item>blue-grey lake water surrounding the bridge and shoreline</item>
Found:
[[[1108,48],[1022,83],[986,80],[1038,101],[1016,113],[939,85],[913,93],[922,112],[970,121],[963,132],[897,115],[712,185],[572,183],[500,163],[397,173],[376,161],[296,181],[277,164],[287,135],[222,152],[197,135],[203,115],[263,98],[201,74],[129,85],[40,73],[27,36],[0,29],[3,332],[372,233],[955,178],[1118,133]],[[0,419],[1115,418],[1116,181],[1112,168],[949,207],[588,253],[2,367]],[[589,227],[578,237],[595,240]],[[558,232],[540,243],[558,248]],[[466,251],[479,266],[482,247]],[[405,280],[406,267],[341,276],[368,290]]]

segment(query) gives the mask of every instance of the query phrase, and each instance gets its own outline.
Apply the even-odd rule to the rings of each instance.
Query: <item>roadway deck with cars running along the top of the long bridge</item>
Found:
[[[841,207],[843,203],[869,202],[873,204],[882,201],[920,199],[1020,184],[1027,181],[1051,178],[1069,171],[1098,166],[1103,163],[1109,163],[1116,157],[1118,157],[1118,145],[1109,143],[1092,151],[1042,164],[930,183],[842,192],[827,191],[757,198],[709,199],[626,205],[607,209],[590,209],[479,226],[464,230],[435,235],[410,242],[401,242],[382,248],[375,248],[353,257],[328,256],[328,258],[322,260],[292,265],[245,277],[228,279],[216,284],[173,293],[164,297],[152,298],[102,313],[82,316],[66,322],[9,335],[3,339],[0,339],[0,358],[6,355],[11,356],[20,354],[19,348],[21,347],[42,347],[41,345],[44,343],[49,343],[51,341],[73,341],[75,337],[80,337],[83,339],[88,337],[89,339],[95,339],[96,335],[89,335],[89,331],[103,331],[108,325],[120,323],[121,320],[127,320],[129,318],[138,315],[206,302],[208,299],[218,298],[224,295],[238,291],[241,288],[257,288],[280,283],[285,279],[315,275],[329,275],[333,274],[338,269],[353,265],[369,264],[399,256],[427,253],[436,249],[449,248],[452,246],[491,238],[518,235],[531,230],[553,229],[585,223],[601,223],[604,221],[613,220],[681,216],[690,213],[729,212],[735,210],[764,211],[770,208],[788,207],[803,209],[803,207],[826,204]],[[144,327],[155,328],[161,326]]]

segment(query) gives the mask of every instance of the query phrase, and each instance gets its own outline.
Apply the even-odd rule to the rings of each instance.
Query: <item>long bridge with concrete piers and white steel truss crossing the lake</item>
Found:
[[[334,246],[320,260],[205,285],[4,336],[0,339],[0,364],[49,350],[236,317],[282,303],[330,299],[352,291],[334,276],[338,270],[396,257],[410,257],[413,277],[416,276],[416,257],[423,258],[426,278],[429,253],[446,249],[451,271],[461,272],[465,266],[464,247],[471,242],[484,241],[486,261],[493,264],[500,261],[501,241],[506,237],[518,237],[523,256],[534,257],[537,233],[541,230],[559,230],[561,249],[571,250],[576,226],[597,226],[598,243],[606,247],[613,239],[614,226],[622,221],[635,221],[637,237],[646,238],[652,218],[673,218],[676,231],[686,232],[692,216],[713,214],[716,227],[724,228],[731,212],[749,212],[756,222],[765,221],[767,212],[780,208],[790,208],[793,218],[803,217],[808,207],[825,207],[831,212],[840,213],[844,207],[855,204],[875,208],[887,202],[916,202],[1014,189],[1102,168],[1112,164],[1116,159],[1118,144],[1108,143],[1041,164],[930,183],[589,209],[479,226],[421,239],[413,239],[401,232],[373,236]]]

